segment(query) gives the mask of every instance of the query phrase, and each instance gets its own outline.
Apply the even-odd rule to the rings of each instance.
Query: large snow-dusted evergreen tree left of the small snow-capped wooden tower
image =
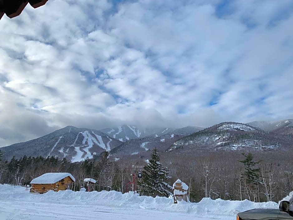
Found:
[[[169,191],[171,188],[167,183],[167,180],[171,177],[168,176],[168,168],[159,162],[160,159],[158,150],[153,149],[151,159],[142,170],[142,180],[138,182],[140,186],[138,191],[143,195],[168,197],[171,194]]]

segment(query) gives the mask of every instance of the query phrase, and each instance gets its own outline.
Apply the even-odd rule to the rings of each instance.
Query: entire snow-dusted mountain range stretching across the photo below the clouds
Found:
[[[160,152],[199,154],[220,150],[288,150],[293,146],[293,120],[223,122],[209,128],[146,128],[122,125],[93,130],[66,126],[43,137],[0,148],[4,159],[13,156],[58,156],[77,162],[108,151],[117,159]]]

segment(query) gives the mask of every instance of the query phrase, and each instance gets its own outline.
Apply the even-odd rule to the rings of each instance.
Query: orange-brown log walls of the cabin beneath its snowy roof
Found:
[[[51,184],[31,184],[31,193],[46,193],[49,190],[53,190],[55,192],[58,192],[59,190],[65,190],[67,188],[67,184],[73,183],[72,179],[70,177],[65,177],[61,179],[60,181],[56,183]]]

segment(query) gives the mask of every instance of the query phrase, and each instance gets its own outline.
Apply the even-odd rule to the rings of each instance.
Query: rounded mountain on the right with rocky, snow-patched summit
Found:
[[[292,137],[280,136],[251,125],[224,122],[174,142],[167,151],[265,150],[290,147]]]

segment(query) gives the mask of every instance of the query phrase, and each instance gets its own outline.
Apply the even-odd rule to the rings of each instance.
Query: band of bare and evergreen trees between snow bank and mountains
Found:
[[[160,155],[161,154],[161,155]],[[103,152],[95,159],[71,163],[67,159],[50,157],[2,159],[0,151],[0,183],[27,185],[44,173],[67,172],[76,179],[72,190],[86,187],[84,178],[94,178],[94,190],[116,190],[125,193],[136,178],[137,192],[155,197],[169,196],[171,185],[180,178],[189,185],[191,202],[204,197],[255,202],[279,201],[293,191],[291,155],[279,152],[217,152],[206,155],[174,155],[155,148],[146,163],[139,157],[112,159]],[[143,169],[137,169],[143,167]]]

